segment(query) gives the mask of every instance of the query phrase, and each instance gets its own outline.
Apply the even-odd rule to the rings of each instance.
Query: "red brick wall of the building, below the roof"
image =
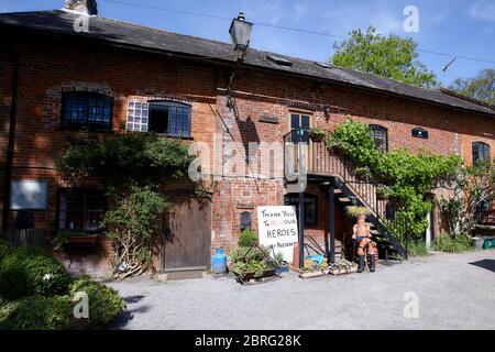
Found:
[[[315,124],[326,130],[333,130],[348,114],[365,123],[384,125],[388,129],[391,150],[425,148],[444,155],[455,152],[471,161],[471,143],[483,141],[491,145],[492,157],[495,156],[494,118],[432,103],[244,68],[234,80],[237,111],[231,111],[226,107],[229,70],[224,68],[41,37],[19,38],[14,47],[20,56],[20,82],[12,178],[48,180],[48,209],[35,215],[36,227],[48,230],[55,228],[56,191],[63,185],[53,169],[54,161],[69,140],[77,136],[77,132],[59,128],[61,95],[64,91],[88,90],[113,97],[113,133],[124,132],[130,99],[172,99],[193,106],[194,141],[205,142],[210,147],[216,136],[217,146],[234,141],[245,150],[250,142],[282,142],[289,128],[289,112],[295,110],[311,114]],[[4,156],[12,66],[3,52],[0,52],[0,155]],[[322,111],[324,105],[331,106],[328,121]],[[411,138],[411,129],[416,127],[428,130],[429,139]],[[111,135],[100,134],[100,138]],[[219,165],[219,160],[223,152],[211,153],[210,158],[220,174],[222,165]],[[258,165],[273,164],[273,155],[267,157],[263,152],[256,150]],[[233,151],[229,151],[229,155],[231,158],[239,156]],[[1,157],[0,165],[3,174],[4,157]],[[256,228],[257,206],[283,204],[286,189],[280,166],[279,163],[272,166],[272,179],[231,177],[217,183],[212,198],[212,249],[223,246],[230,250],[237,245],[242,211],[252,212],[252,223]],[[1,187],[2,183],[3,177]],[[319,189],[311,191],[319,195],[320,220],[318,228],[309,229],[308,233],[323,235],[328,231],[326,195]],[[2,195],[0,193],[0,197]],[[3,205],[1,198],[0,205]],[[341,209],[338,209],[337,218],[339,238],[348,231],[349,220]],[[108,252],[100,251],[106,255]]]

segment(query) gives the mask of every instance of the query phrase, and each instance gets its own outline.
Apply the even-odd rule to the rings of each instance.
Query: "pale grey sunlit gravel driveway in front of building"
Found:
[[[495,329],[495,251],[254,286],[232,277],[109,285],[128,301],[113,329]],[[405,295],[419,299],[418,318],[405,317]]]

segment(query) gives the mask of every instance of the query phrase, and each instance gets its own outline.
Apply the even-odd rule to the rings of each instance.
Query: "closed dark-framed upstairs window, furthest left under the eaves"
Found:
[[[111,131],[113,99],[94,92],[66,92],[62,97],[62,127]]]

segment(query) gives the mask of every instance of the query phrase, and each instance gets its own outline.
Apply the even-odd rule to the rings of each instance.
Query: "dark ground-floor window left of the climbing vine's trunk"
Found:
[[[65,188],[58,195],[58,230],[97,231],[107,209],[105,193]]]

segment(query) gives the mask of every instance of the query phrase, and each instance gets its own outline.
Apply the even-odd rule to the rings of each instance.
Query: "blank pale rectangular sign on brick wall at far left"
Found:
[[[12,182],[12,210],[45,210],[47,204],[47,184],[45,180]]]

